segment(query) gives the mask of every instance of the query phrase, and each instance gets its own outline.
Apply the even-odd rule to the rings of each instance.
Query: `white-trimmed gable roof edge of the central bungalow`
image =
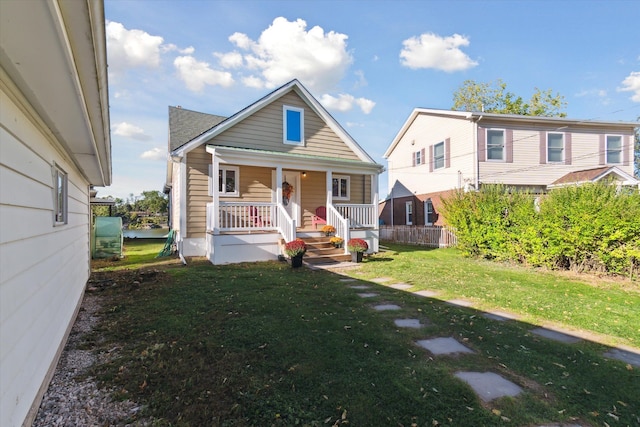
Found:
[[[289,83],[284,84],[283,86],[267,94],[253,104],[238,111],[231,117],[213,125],[210,129],[198,134],[187,143],[172,149],[169,154],[171,156],[182,157],[185,153],[202,145],[203,143],[206,143],[211,138],[235,126],[245,118],[254,114],[256,111],[259,111],[260,109],[292,91],[296,92],[296,94],[300,96],[300,98],[309,106],[309,108],[311,108],[311,110],[316,113],[327,124],[327,126],[329,126],[329,128],[333,132],[335,132],[336,135],[338,135],[338,137],[342,141],[344,141],[344,143],[358,156],[361,161],[375,164],[375,161],[362,149],[362,147],[360,147],[360,145],[358,145],[358,143],[351,137],[351,135],[349,135],[347,131],[345,131],[342,126],[340,126],[340,124],[333,118],[333,116],[331,116],[331,114],[329,114],[329,112],[324,109],[324,107],[297,79],[291,80]]]

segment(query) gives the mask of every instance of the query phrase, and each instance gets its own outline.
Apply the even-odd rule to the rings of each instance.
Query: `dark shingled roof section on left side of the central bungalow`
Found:
[[[181,107],[169,107],[169,152],[182,147],[227,118],[199,113]]]

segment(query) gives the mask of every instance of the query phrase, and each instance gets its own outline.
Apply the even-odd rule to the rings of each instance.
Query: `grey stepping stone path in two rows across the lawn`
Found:
[[[393,280],[390,277],[378,277],[375,279],[371,279],[371,282],[374,283],[385,283]],[[340,279],[341,282],[354,282],[355,279]],[[389,287],[399,290],[407,290],[412,287],[412,285],[408,283],[395,283],[389,285]],[[367,285],[352,285],[350,286],[352,289],[368,289]],[[413,292],[414,295],[421,297],[434,297],[438,295],[436,291],[429,290],[421,290],[417,292]],[[359,293],[358,296],[362,298],[372,298],[378,296],[377,293],[368,292],[368,293]],[[445,301],[451,305],[457,305],[461,307],[471,307],[473,303],[461,299],[454,299]],[[377,311],[389,311],[389,310],[400,310],[402,307],[396,304],[380,304],[373,306],[374,310]],[[507,320],[518,319],[517,315],[511,313],[505,313],[501,311],[488,312],[483,314],[484,317],[495,320],[498,322],[504,322]],[[424,325],[420,323],[419,319],[395,319],[394,323],[399,328],[414,328],[419,329]],[[581,341],[580,338],[565,334],[563,332],[554,331],[547,328],[536,328],[530,330],[531,333],[551,339],[554,341],[562,342],[565,344],[573,344]],[[461,343],[459,343],[453,337],[439,337],[439,338],[431,338],[425,340],[416,341],[416,344],[420,347],[430,351],[434,355],[454,355],[460,353],[475,353],[468,347],[465,347]],[[630,365],[634,365],[640,367],[640,353],[636,353],[635,351],[627,351],[619,348],[612,348],[603,354],[604,357],[617,359],[623,362],[626,362]],[[493,373],[493,372],[456,372],[454,374],[460,380],[466,382],[473,391],[482,399],[484,402],[490,402],[494,399],[498,399],[504,396],[517,396],[522,393],[522,388],[517,384],[503,378],[502,376]],[[564,427],[581,427],[577,424],[561,424]],[[539,426],[539,427],[556,427],[554,426]]]

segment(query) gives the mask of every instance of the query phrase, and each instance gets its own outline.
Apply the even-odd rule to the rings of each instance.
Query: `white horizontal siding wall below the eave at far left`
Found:
[[[88,182],[18,102],[0,84],[2,426],[21,425],[46,385],[89,277]],[[57,227],[54,162],[69,193],[68,224]]]

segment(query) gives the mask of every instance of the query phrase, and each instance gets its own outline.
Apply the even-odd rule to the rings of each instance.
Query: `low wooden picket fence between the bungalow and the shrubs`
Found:
[[[448,228],[426,225],[381,225],[380,240],[431,248],[447,248],[457,244],[455,234]]]

